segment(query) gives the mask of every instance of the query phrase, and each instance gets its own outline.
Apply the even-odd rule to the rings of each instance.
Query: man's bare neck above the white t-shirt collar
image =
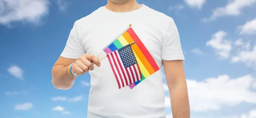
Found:
[[[110,11],[122,13],[137,10],[141,8],[142,5],[138,4],[136,0],[128,0],[126,3],[122,4],[116,4],[108,0],[108,3],[105,7]]]

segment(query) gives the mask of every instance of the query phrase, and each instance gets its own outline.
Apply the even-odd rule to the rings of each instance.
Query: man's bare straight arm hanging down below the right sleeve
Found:
[[[163,67],[170,92],[173,118],[190,118],[189,97],[183,60],[163,60]]]

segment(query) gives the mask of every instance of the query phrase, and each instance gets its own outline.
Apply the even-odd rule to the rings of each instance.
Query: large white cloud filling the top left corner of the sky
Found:
[[[39,23],[48,13],[48,0],[0,0],[0,24],[12,22]]]

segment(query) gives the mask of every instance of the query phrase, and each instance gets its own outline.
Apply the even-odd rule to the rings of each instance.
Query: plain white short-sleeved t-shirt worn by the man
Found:
[[[174,20],[148,6],[117,13],[105,6],[77,20],[70,32],[62,57],[77,59],[84,53],[105,57],[105,48],[129,26],[145,45],[158,67],[163,60],[184,60]],[[133,89],[118,88],[108,58],[101,67],[89,71],[90,93],[87,118],[165,118],[165,94],[161,70],[148,76]]]

